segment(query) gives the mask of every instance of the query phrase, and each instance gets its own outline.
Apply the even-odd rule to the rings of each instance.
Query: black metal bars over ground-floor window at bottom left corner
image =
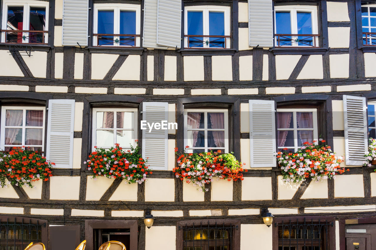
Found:
[[[42,242],[42,224],[0,221],[0,250],[23,250],[31,242]]]

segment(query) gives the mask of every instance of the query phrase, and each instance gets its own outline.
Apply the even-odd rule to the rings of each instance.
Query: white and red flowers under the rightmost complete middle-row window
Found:
[[[319,139],[321,143],[325,140]],[[337,157],[330,146],[305,142],[297,152],[277,152],[277,161],[285,182],[299,182],[306,178],[316,181],[335,178],[345,172],[340,167],[342,157]],[[284,149],[284,150],[287,150]],[[349,169],[347,169],[349,171]]]

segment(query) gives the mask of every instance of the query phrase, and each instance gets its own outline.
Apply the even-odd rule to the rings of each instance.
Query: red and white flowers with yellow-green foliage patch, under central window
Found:
[[[185,179],[187,183],[192,182],[203,192],[208,191],[204,184],[211,183],[214,178],[228,181],[243,180],[243,171],[247,172],[243,169],[245,164],[237,161],[233,154],[220,154],[220,152],[220,150],[198,154],[184,152],[177,158],[177,167],[173,169],[176,178],[182,181]]]

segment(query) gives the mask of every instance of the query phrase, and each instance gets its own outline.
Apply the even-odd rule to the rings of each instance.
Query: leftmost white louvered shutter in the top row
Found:
[[[88,45],[88,0],[63,0],[62,45]]]

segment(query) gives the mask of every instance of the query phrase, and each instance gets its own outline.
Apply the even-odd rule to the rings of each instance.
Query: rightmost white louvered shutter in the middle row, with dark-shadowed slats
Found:
[[[367,107],[364,97],[343,96],[346,165],[363,165],[368,149]]]

